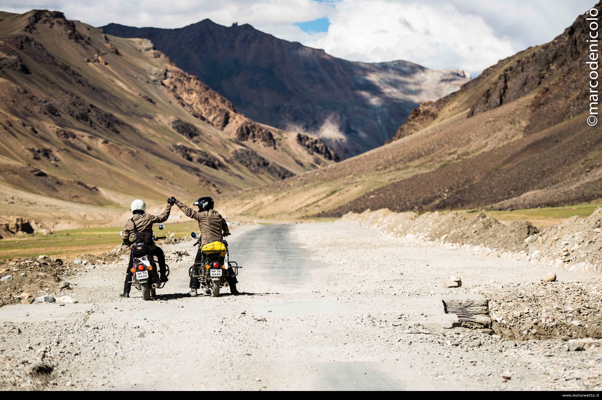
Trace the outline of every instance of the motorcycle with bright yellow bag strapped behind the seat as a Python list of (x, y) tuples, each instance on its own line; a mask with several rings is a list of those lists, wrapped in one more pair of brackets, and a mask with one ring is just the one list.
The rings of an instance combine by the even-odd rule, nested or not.
[[(230, 226), (229, 222), (226, 222)], [(197, 239), (194, 246), (200, 245), (200, 237), (190, 233)], [(229, 259), (228, 242), (211, 242), (200, 249), (203, 253), (201, 262), (195, 262), (188, 270), (191, 278), (198, 278), (201, 286), (207, 288), (211, 297), (219, 297), (220, 288), (228, 288), (228, 277), (238, 275), (238, 263)]]

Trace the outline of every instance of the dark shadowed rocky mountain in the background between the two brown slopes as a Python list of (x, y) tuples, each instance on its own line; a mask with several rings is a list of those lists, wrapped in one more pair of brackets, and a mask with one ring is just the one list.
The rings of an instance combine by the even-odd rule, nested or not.
[(356, 63), (250, 25), (205, 19), (179, 29), (111, 23), (108, 34), (147, 38), (188, 73), (253, 120), (317, 134), (343, 158), (391, 138), (420, 102), (452, 93), (462, 71), (435, 71), (408, 61)]

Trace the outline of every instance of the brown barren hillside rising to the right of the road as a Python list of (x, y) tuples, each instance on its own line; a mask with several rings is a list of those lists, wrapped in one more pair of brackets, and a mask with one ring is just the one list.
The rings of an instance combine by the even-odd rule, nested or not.
[[(600, 10), (601, 5), (595, 6)], [(589, 110), (585, 16), (412, 111), (391, 143), (337, 165), (245, 191), (239, 214), (556, 206), (602, 195), (600, 126)]]

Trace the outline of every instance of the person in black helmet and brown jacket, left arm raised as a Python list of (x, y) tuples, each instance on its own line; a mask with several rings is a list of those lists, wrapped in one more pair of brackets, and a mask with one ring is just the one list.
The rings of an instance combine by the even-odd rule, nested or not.
[[(211, 243), (211, 242), (222, 242), (228, 247), (228, 242), (224, 241), (224, 236), (230, 235), (230, 230), (228, 228), (228, 224), (226, 224), (226, 220), (223, 219), (222, 215), (219, 212), (213, 209), (213, 198), (211, 197), (200, 197), (196, 202), (194, 202), (193, 206), (198, 206), (199, 211), (194, 211), (184, 203), (176, 200), (175, 197), (169, 198), (170, 202), (173, 202), (179, 209), (184, 212), (187, 217), (192, 218), (199, 222), (200, 229), (200, 245), (199, 250), (196, 253), (196, 257), (194, 262), (201, 262), (203, 257), (203, 252), (200, 250), (203, 245)], [(235, 276), (228, 277), (228, 285), (230, 287), (230, 292), (232, 294), (239, 294), (236, 289), (236, 284), (238, 280)], [(200, 288), (199, 278), (190, 278), (190, 292), (188, 294), (191, 297), (197, 295), (197, 289)], [(208, 292), (209, 289), (205, 288), (205, 291)]]

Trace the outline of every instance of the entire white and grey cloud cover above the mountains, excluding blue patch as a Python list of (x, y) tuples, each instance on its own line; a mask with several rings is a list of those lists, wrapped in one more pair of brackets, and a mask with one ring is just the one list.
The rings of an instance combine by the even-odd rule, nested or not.
[[(4, 11), (64, 11), (101, 26), (179, 28), (209, 18), (250, 23), (276, 37), (355, 61), (408, 60), (476, 74), (528, 46), (553, 39), (595, 0), (4, 0)], [(327, 16), (328, 32), (296, 22)]]

